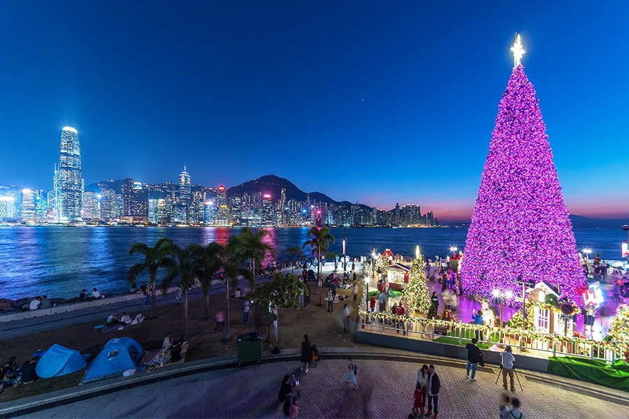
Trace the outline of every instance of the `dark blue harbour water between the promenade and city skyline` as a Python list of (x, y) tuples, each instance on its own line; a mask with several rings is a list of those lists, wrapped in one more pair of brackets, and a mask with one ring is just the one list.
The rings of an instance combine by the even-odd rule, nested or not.
[[(129, 249), (136, 242), (152, 246), (161, 237), (170, 237), (181, 247), (191, 243), (226, 243), (240, 228), (166, 228), (166, 227), (1, 227), (0, 228), (0, 298), (48, 295), (75, 297), (82, 288), (96, 287), (101, 293), (126, 293), (126, 272), (142, 260)], [(302, 247), (309, 228), (269, 228), (265, 241), (276, 251), (277, 260), (287, 260), (285, 250)], [(342, 253), (343, 228), (331, 228), (335, 243), (330, 251)], [(446, 256), (449, 247), (463, 249), (467, 228), (347, 228), (347, 255), (368, 255), (373, 248), (380, 252), (414, 256), (415, 246), (428, 258)], [(602, 258), (619, 260), (621, 228), (575, 228), (577, 249), (588, 247)], [(306, 249), (305, 253), (310, 256)], [(593, 255), (591, 255), (593, 257)], [(266, 263), (271, 260), (267, 258)], [(147, 281), (143, 273), (140, 281)], [(159, 278), (158, 278), (159, 281)]]

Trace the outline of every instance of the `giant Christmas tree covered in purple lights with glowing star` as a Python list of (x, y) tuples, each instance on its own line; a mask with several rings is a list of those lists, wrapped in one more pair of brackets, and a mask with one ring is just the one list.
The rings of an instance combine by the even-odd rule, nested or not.
[(577, 301), (585, 280), (535, 89), (520, 59), (500, 100), (461, 265), (463, 289), (521, 295), (515, 280), (555, 284)]

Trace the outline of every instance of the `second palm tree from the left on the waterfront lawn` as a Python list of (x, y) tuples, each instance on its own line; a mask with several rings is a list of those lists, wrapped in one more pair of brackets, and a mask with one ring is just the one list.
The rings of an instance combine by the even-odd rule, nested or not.
[(182, 249), (173, 243), (167, 247), (168, 256), (163, 260), (164, 266), (168, 269), (168, 276), (162, 282), (162, 292), (166, 293), (176, 277), (179, 277), (179, 286), (182, 289), (181, 295), (184, 303), (182, 340), (188, 340), (188, 290), (194, 285), (198, 275), (201, 274), (204, 251), (205, 249), (201, 244), (189, 244)]

